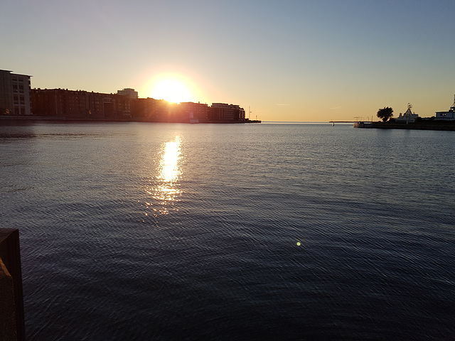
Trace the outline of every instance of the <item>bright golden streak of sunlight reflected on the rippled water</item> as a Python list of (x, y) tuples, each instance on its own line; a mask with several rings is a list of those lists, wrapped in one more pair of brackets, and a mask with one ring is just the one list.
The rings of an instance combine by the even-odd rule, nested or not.
[(159, 202), (160, 208), (154, 209), (156, 214), (167, 215), (168, 205), (180, 201), (178, 196), (181, 195), (181, 190), (178, 189), (178, 180), (182, 173), (181, 159), (180, 136), (176, 136), (175, 141), (166, 142), (161, 146), (161, 160), (157, 168), (156, 182), (151, 189), (146, 190)]

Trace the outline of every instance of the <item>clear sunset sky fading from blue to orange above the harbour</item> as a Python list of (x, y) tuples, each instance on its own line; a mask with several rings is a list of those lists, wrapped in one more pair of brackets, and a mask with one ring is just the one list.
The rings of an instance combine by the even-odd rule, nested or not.
[(1, 0), (0, 69), (139, 97), (164, 98), (166, 82), (180, 102), (263, 121), (397, 117), (408, 103), (432, 117), (454, 102), (454, 14), (454, 0)]

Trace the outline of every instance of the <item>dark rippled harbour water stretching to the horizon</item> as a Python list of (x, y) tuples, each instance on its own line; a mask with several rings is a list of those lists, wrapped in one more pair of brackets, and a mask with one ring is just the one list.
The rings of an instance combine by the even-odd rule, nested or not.
[(27, 338), (455, 340), (454, 145), (329, 124), (0, 126)]

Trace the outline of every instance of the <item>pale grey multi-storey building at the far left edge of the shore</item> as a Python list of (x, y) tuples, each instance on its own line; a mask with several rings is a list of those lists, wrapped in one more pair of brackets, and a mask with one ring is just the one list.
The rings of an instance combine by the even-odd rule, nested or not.
[(30, 77), (0, 70), (0, 114), (31, 115)]

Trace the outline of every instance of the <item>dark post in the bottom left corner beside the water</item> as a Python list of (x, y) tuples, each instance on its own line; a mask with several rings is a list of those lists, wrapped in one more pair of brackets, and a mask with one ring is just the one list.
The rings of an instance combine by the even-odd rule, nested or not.
[(0, 229), (0, 340), (25, 340), (18, 229)]

